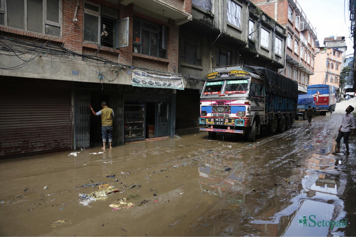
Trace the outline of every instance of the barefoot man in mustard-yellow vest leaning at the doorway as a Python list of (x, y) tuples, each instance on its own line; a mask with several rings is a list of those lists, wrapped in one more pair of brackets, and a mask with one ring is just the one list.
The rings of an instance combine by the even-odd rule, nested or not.
[(93, 107), (91, 104), (88, 104), (88, 107), (91, 110), (91, 113), (94, 114), (94, 116), (100, 116), (101, 115), (101, 134), (103, 138), (103, 151), (105, 152), (105, 145), (106, 145), (106, 136), (108, 136), (109, 139), (109, 144), (110, 144), (110, 150), (111, 150), (111, 144), (112, 144), (112, 119), (114, 118), (114, 111), (112, 111), (111, 108), (108, 107), (106, 102), (101, 102), (101, 110), (99, 112), (94, 111)]

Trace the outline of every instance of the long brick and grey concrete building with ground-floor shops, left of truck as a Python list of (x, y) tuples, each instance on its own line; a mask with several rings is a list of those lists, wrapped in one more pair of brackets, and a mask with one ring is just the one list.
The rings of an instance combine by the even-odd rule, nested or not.
[(284, 67), (285, 29), (248, 0), (0, 0), (0, 158), (198, 125), (214, 66)]

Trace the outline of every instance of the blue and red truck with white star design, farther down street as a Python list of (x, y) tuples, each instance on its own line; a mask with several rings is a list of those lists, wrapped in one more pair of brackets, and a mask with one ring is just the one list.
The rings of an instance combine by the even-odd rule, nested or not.
[(314, 97), (315, 109), (320, 114), (333, 113), (336, 107), (335, 86), (331, 85), (311, 85), (307, 86), (307, 94)]

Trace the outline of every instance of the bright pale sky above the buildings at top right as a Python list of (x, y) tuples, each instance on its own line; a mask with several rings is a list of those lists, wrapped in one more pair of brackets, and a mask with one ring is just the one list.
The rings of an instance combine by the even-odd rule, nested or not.
[(349, 0), (297, 0), (297, 2), (314, 27), (320, 46), (324, 45), (325, 37), (345, 36), (346, 55), (354, 53), (352, 38), (350, 38)]

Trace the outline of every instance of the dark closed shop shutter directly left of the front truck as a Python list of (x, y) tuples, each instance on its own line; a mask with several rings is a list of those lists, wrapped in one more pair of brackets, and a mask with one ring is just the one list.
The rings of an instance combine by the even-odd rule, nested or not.
[(199, 90), (177, 90), (176, 130), (199, 126)]

